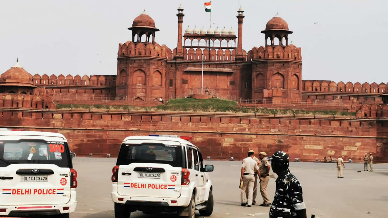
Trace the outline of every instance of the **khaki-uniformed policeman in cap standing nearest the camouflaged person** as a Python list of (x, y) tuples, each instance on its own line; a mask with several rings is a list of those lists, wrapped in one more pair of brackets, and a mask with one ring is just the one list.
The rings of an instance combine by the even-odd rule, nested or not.
[(259, 153), (259, 158), (260, 158), (259, 171), (260, 171), (260, 177), (262, 178), (262, 180), (260, 181), (260, 193), (262, 194), (262, 197), (263, 197), (263, 203), (260, 204), (260, 206), (263, 206), (263, 207), (268, 207), (271, 205), (271, 202), (268, 199), (268, 195), (267, 195), (267, 185), (269, 181), (269, 170), (271, 168), (271, 165), (269, 164), (268, 158), (266, 156), (267, 156), (267, 153), (265, 152)]

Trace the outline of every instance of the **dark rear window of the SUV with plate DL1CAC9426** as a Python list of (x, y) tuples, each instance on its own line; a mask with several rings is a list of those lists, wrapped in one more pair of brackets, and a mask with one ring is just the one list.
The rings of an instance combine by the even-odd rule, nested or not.
[(154, 143), (122, 144), (117, 165), (131, 163), (162, 163), (173, 167), (182, 167), (182, 151), (180, 145), (164, 145)]

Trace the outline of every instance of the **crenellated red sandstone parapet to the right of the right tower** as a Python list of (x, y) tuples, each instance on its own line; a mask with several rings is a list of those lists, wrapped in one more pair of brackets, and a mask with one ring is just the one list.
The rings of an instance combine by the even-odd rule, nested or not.
[(304, 92), (339, 92), (339, 93), (384, 93), (388, 83), (351, 83), (346, 84), (341, 82), (335, 83), (334, 81), (326, 80), (303, 80)]

